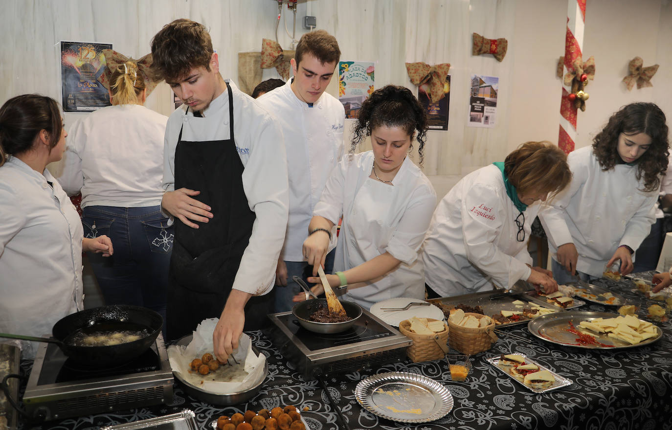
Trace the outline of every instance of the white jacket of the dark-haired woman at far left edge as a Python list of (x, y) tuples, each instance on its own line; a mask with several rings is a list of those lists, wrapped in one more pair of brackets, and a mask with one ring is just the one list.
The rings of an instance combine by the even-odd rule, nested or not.
[[(50, 334), (83, 309), (79, 214), (47, 169), (40, 175), (9, 157), (0, 167), (0, 220), (0, 331)], [(35, 353), (24, 342), (23, 357)]]

